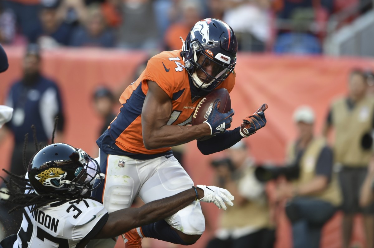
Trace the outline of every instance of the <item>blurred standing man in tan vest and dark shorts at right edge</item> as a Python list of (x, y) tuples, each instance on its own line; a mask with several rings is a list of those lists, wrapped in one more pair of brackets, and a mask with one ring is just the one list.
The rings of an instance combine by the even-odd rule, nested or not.
[(374, 204), (359, 205), (360, 189), (374, 158), (372, 151), (374, 129), (374, 98), (368, 95), (364, 73), (354, 69), (349, 75), (348, 94), (335, 100), (329, 109), (323, 134), (334, 135), (334, 163), (343, 194), (343, 248), (348, 248), (355, 214), (363, 215), (366, 247), (374, 247)]

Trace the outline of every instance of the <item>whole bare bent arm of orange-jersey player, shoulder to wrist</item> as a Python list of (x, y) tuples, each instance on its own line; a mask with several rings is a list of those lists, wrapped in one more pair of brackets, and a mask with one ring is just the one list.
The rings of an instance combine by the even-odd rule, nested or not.
[(148, 81), (148, 92), (142, 109), (142, 135), (145, 148), (170, 147), (208, 136), (208, 124), (195, 126), (166, 125), (172, 112), (172, 101), (156, 82)]

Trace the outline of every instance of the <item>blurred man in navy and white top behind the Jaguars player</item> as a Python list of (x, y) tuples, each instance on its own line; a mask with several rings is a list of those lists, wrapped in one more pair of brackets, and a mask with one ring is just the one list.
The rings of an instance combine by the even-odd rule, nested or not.
[[(30, 144), (25, 150), (26, 161), (30, 161), (36, 151), (31, 125), (35, 125), (36, 137), (42, 146), (50, 142), (56, 116), (59, 117), (59, 122), (55, 141), (62, 140), (64, 130), (64, 114), (59, 88), (55, 82), (41, 74), (39, 48), (35, 44), (28, 47), (23, 60), (23, 76), (10, 87), (6, 105), (14, 109), (12, 120), (5, 126), (14, 136), (10, 172), (24, 175), (22, 153), (25, 134), (30, 134)], [(0, 130), (4, 132), (6, 129)]]

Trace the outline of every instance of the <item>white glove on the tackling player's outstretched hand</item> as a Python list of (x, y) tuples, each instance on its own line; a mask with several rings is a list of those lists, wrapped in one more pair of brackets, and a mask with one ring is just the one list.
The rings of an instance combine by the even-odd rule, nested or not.
[(199, 201), (203, 201), (205, 203), (214, 203), (218, 208), (223, 208), (223, 210), (227, 209), (225, 203), (229, 204), (230, 206), (234, 205), (232, 202), (232, 200), (234, 200), (234, 196), (230, 194), (227, 189), (205, 185), (196, 185), (196, 187), (204, 191), (204, 197)]

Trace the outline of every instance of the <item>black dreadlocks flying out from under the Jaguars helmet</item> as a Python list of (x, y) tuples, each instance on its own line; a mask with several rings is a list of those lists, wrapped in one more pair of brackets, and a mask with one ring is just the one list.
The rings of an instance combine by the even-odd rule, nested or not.
[[(55, 119), (55, 123), (56, 122), (57, 122), (57, 118)], [(31, 128), (33, 129), (34, 145), (36, 148), (36, 152), (38, 152), (40, 151), (41, 147), (38, 145), (38, 142), (36, 140), (36, 128), (34, 125), (31, 126)], [(53, 130), (53, 137), (54, 137), (55, 130), (56, 129)], [(22, 163), (26, 171), (28, 169), (26, 156), (25, 156), (27, 142), (28, 142), (28, 134), (25, 135), (24, 149), (23, 149), (23, 156), (22, 156)], [(1, 199), (1, 201), (5, 201), (5, 202), (12, 203), (15, 205), (15, 207), (9, 210), (8, 213), (12, 213), (15, 210), (28, 207), (28, 206), (31, 206), (30, 212), (33, 212), (37, 208), (43, 207), (49, 203), (53, 203), (56, 201), (65, 201), (65, 202), (70, 201), (70, 203), (73, 204), (73, 203), (79, 203), (80, 201), (87, 199), (87, 198), (96, 200), (95, 198), (90, 197), (88, 195), (81, 195), (79, 194), (79, 192), (76, 192), (75, 194), (64, 193), (63, 195), (58, 194), (58, 193), (36, 194), (36, 192), (33, 191), (34, 188), (31, 186), (29, 180), (25, 178), (26, 175), (22, 175), (22, 176), (16, 175), (5, 169), (3, 169), (3, 171), (9, 175), (9, 178), (6, 180), (2, 176), (0, 176), (0, 178), (3, 179), (7, 187), (7, 191), (0, 191), (0, 192), (3, 194), (9, 195), (9, 198)], [(25, 193), (25, 191), (30, 191), (30, 192)]]

